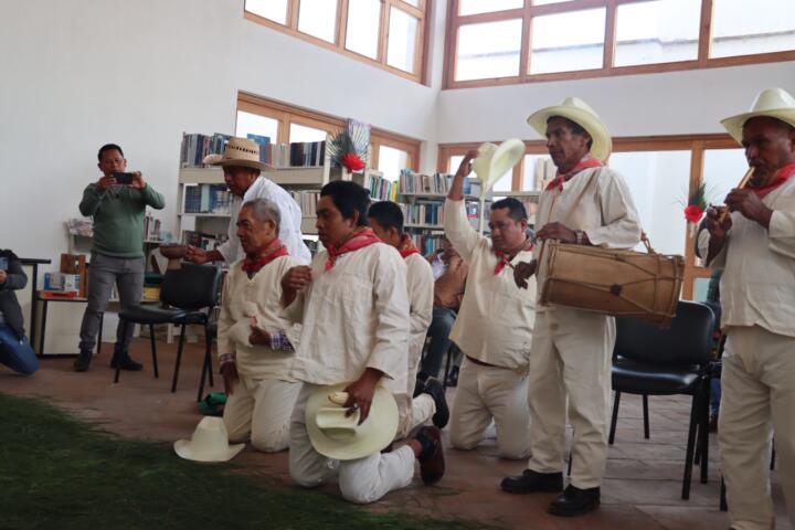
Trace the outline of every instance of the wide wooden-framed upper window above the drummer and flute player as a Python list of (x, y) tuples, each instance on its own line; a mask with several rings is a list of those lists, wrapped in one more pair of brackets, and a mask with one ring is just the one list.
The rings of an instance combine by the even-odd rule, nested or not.
[(795, 60), (792, 0), (448, 0), (445, 88)]

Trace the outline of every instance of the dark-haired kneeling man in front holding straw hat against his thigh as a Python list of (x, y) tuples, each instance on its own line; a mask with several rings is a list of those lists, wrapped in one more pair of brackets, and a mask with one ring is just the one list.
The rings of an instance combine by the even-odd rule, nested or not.
[(354, 182), (326, 184), (316, 223), (326, 251), (282, 279), (285, 315), (303, 324), (290, 476), (316, 487), (339, 475), (342, 497), (357, 504), (411, 484), (415, 459), (425, 484), (444, 475), (437, 427), (381, 453), (398, 433), (392, 394), (406, 389), (410, 317), (405, 264), (367, 226), (369, 205)]

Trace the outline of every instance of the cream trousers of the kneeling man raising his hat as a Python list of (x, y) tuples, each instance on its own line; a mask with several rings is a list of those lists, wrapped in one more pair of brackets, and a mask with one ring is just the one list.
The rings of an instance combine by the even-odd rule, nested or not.
[(499, 367), (484, 367), (464, 359), (451, 415), (451, 445), (473, 449), (486, 437), (494, 420), (502, 458), (530, 455), (528, 377)]

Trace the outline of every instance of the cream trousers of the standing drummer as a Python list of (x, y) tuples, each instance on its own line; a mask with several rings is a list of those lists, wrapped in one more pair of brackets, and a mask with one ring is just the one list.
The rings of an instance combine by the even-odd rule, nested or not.
[(611, 365), (615, 319), (558, 307), (536, 315), (530, 351), (530, 431), (537, 473), (562, 473), (566, 399), (572, 439), (570, 483), (581, 489), (602, 484), (607, 464)]

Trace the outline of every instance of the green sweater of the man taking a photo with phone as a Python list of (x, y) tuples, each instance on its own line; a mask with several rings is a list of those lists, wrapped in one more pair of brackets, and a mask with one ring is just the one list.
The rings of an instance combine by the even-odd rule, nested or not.
[(96, 183), (83, 191), (80, 210), (94, 218), (92, 252), (112, 257), (144, 257), (146, 206), (162, 210), (163, 197), (149, 184), (142, 190), (113, 186), (100, 191)]

